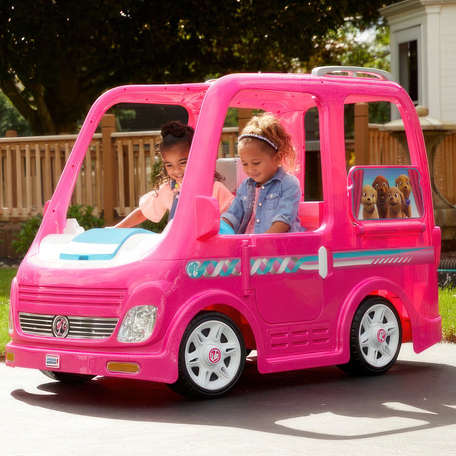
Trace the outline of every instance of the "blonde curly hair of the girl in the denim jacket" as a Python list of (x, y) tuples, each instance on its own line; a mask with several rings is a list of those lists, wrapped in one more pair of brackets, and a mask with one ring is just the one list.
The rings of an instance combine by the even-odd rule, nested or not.
[(291, 141), (291, 136), (274, 114), (263, 113), (252, 117), (242, 130), (242, 135), (264, 136), (264, 138), (267, 138), (277, 146), (277, 150), (266, 141), (257, 138), (242, 138), (238, 142), (238, 147), (244, 144), (244, 141), (260, 141), (265, 148), (275, 153), (275, 162), (282, 166), (285, 171), (293, 174), (299, 170), (299, 165), (296, 164), (296, 150)]

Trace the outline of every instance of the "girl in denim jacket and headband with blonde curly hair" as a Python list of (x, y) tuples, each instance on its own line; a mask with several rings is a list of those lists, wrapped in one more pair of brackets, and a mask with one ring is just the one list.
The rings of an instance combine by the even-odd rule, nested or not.
[(280, 121), (265, 113), (249, 120), (238, 137), (238, 154), (249, 176), (222, 221), (236, 234), (304, 231), (298, 218), (301, 188), (295, 176), (296, 151)]

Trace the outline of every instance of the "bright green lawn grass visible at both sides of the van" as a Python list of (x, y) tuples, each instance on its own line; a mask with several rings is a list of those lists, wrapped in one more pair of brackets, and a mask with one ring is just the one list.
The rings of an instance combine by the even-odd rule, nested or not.
[[(11, 280), (17, 269), (0, 269), (0, 356), (5, 356), (8, 336), (8, 310)], [(456, 288), (439, 290), (439, 309), (442, 316), (442, 340), (456, 343)]]

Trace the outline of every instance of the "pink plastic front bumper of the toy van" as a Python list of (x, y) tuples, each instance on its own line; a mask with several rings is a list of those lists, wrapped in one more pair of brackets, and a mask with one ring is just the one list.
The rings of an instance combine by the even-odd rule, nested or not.
[[(50, 346), (26, 346), (16, 341), (6, 345), (6, 352), (14, 354), (14, 361), (5, 361), (6, 366), (40, 370), (53, 370), (67, 373), (81, 373), (122, 378), (137, 378), (162, 383), (174, 383), (177, 380), (177, 359), (171, 353), (135, 354), (124, 352), (90, 352), (82, 350), (56, 348)], [(59, 368), (46, 367), (46, 356), (58, 355)], [(135, 363), (137, 373), (110, 372), (109, 362)]]

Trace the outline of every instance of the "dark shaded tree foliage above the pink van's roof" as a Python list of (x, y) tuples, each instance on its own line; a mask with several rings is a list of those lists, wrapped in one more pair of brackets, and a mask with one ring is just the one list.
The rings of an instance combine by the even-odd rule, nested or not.
[(72, 132), (108, 88), (293, 71), (393, 1), (2, 0), (0, 88), (35, 134)]

